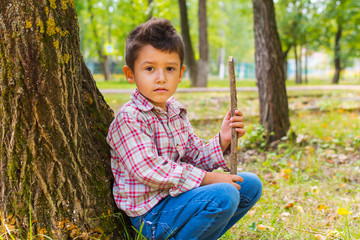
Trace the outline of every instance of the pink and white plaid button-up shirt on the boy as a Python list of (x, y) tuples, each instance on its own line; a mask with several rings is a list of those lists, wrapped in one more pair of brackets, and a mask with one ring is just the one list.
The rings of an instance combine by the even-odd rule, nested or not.
[(145, 214), (161, 199), (199, 187), (205, 171), (227, 169), (219, 134), (204, 145), (186, 109), (171, 97), (167, 112), (137, 90), (109, 127), (113, 194), (130, 217)]

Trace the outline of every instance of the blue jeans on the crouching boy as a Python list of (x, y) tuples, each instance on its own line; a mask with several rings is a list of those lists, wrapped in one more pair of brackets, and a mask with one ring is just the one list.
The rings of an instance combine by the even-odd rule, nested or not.
[(241, 189), (229, 183), (194, 188), (168, 196), (146, 214), (131, 218), (133, 226), (152, 240), (218, 239), (260, 199), (262, 184), (253, 173), (239, 173)]

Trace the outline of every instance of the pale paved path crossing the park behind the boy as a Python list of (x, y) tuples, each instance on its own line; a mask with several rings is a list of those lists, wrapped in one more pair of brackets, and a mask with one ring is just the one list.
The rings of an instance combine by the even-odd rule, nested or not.
[[(238, 87), (238, 92), (257, 92), (257, 87)], [(289, 86), (287, 91), (306, 90), (360, 90), (360, 85), (318, 85), (318, 86)], [(133, 89), (100, 89), (103, 94), (131, 93)], [(178, 88), (176, 92), (229, 92), (229, 88)]]

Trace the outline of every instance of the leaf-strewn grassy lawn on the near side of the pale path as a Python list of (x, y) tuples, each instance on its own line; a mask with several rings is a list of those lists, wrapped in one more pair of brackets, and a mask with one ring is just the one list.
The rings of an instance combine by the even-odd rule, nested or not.
[[(239, 141), (239, 171), (258, 174), (263, 196), (221, 240), (359, 239), (359, 91), (289, 92), (291, 130), (265, 148), (257, 94), (238, 94), (247, 134)], [(319, 97), (319, 95), (321, 95)], [(220, 129), (227, 93), (177, 93), (204, 141)], [(105, 95), (117, 109), (129, 94)]]

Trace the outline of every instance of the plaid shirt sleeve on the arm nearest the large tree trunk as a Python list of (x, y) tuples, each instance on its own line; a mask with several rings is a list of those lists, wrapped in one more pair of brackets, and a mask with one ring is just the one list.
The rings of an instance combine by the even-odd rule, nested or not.
[(154, 189), (169, 189), (171, 196), (200, 186), (205, 172), (159, 156), (152, 130), (139, 115), (122, 112), (111, 129), (108, 142), (120, 164), (138, 182)]

